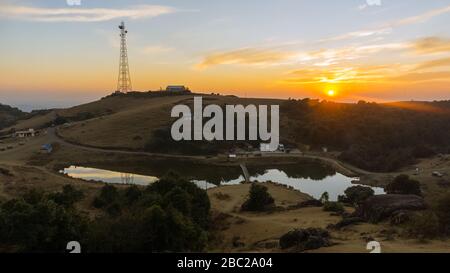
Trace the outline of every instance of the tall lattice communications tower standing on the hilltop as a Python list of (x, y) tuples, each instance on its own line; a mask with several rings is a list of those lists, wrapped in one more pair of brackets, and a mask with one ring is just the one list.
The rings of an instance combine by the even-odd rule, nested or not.
[(125, 23), (119, 25), (120, 29), (120, 63), (119, 63), (119, 78), (117, 80), (117, 91), (128, 92), (132, 91), (130, 68), (128, 66), (128, 51), (127, 51), (127, 33)]

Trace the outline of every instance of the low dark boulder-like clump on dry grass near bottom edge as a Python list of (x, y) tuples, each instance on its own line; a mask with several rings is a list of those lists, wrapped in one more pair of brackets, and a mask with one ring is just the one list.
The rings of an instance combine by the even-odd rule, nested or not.
[(330, 234), (321, 228), (295, 229), (280, 238), (282, 249), (305, 251), (330, 246)]

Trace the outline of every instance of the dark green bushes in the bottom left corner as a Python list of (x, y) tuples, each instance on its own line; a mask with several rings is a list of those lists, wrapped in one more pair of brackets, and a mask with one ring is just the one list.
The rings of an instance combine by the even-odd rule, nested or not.
[(27, 194), (0, 206), (0, 245), (19, 252), (64, 252), (67, 242), (82, 241), (87, 219), (48, 195)]

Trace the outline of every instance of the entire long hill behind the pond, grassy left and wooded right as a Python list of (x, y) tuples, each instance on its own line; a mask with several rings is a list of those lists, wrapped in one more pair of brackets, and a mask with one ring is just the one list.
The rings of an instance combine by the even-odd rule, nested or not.
[[(192, 105), (194, 94), (132, 93), (54, 110), (16, 128), (62, 125), (64, 139), (87, 146), (175, 154), (216, 154), (258, 142), (175, 142), (170, 110)], [(280, 105), (280, 140), (302, 151), (327, 147), (339, 158), (372, 171), (393, 171), (416, 159), (450, 151), (450, 101), (376, 104), (317, 100), (203, 96), (203, 104)]]

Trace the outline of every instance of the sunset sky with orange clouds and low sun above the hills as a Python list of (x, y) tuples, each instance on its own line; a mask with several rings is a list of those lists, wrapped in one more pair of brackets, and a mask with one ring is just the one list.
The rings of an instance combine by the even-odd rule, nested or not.
[(2, 0), (0, 102), (66, 107), (133, 89), (450, 99), (450, 0)]

